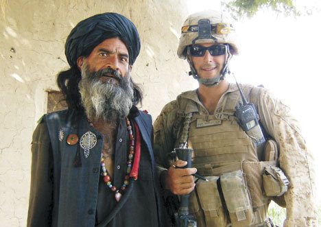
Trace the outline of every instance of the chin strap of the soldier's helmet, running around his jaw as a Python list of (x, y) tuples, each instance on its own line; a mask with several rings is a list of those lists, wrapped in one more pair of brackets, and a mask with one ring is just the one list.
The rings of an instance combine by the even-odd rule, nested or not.
[(225, 79), (226, 74), (230, 73), (230, 69), (228, 69), (228, 61), (230, 60), (230, 58), (232, 58), (232, 54), (230, 53), (230, 49), (228, 47), (228, 45), (226, 44), (226, 51), (225, 51), (225, 64), (224, 64), (224, 68), (221, 71), (221, 75), (219, 75), (219, 77), (215, 77), (215, 78), (209, 78), (209, 79), (204, 79), (204, 78), (200, 78), (195, 70), (195, 67), (193, 65), (193, 62), (191, 61), (190, 56), (190, 50), (189, 48), (187, 48), (187, 62), (189, 62), (189, 67), (191, 68), (191, 71), (189, 71), (189, 75), (193, 75), (193, 78), (195, 80), (198, 80), (198, 82), (200, 82), (201, 84), (204, 84), (205, 86), (217, 86), (219, 84), (219, 82), (221, 82), (222, 80)]

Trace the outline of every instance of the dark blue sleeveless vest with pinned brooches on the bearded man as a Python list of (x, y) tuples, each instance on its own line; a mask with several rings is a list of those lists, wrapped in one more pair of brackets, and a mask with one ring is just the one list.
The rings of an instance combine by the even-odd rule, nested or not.
[[(95, 226), (99, 167), (103, 147), (102, 134), (89, 125), (85, 116), (77, 117), (73, 111), (69, 110), (49, 113), (45, 115), (45, 121), (53, 151), (52, 224), (53, 226)], [(142, 140), (147, 145), (152, 161), (154, 190), (157, 192), (158, 222), (161, 223), (163, 208), (158, 193), (152, 150), (152, 117), (139, 111), (134, 121), (139, 126)], [(75, 167), (73, 162), (78, 144), (67, 144), (67, 136), (69, 134), (81, 136), (88, 131), (96, 135), (97, 144), (90, 150), (88, 158), (82, 157), (82, 167)], [(61, 134), (64, 134), (62, 141), (59, 140), (62, 137)]]

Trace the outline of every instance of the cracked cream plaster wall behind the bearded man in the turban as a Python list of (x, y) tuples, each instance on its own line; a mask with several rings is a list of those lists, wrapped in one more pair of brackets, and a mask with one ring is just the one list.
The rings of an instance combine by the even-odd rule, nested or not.
[(176, 56), (184, 0), (1, 1), (0, 18), (0, 226), (25, 226), (29, 199), (30, 142), (46, 112), (47, 89), (67, 69), (64, 41), (82, 19), (119, 12), (141, 34), (133, 78), (143, 86), (142, 109), (155, 119), (165, 103), (193, 87), (188, 66)]

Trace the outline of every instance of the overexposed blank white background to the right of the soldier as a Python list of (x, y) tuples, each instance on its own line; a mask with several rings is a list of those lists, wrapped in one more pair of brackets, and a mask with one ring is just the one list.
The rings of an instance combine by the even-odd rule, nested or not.
[[(189, 0), (189, 14), (217, 9), (219, 2)], [(321, 9), (321, 1), (316, 0), (301, 0), (296, 4), (300, 8)], [(291, 107), (314, 156), (316, 173), (321, 172), (320, 22), (320, 10), (298, 18), (261, 10), (252, 19), (241, 19), (235, 25), (240, 54), (233, 56), (230, 63), (238, 82), (263, 84)], [(234, 82), (233, 78), (228, 80)], [(321, 179), (316, 180), (320, 204)]]

